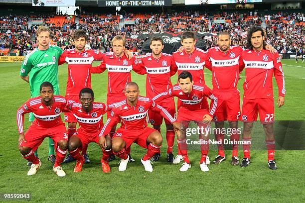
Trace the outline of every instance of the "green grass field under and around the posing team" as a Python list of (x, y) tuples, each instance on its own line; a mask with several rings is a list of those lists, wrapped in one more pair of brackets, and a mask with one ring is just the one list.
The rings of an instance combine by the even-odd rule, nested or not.
[[(98, 62), (95, 62), (95, 65)], [(295, 60), (283, 60), (287, 96), (285, 105), (276, 108), (277, 120), (305, 120), (305, 64)], [(60, 178), (52, 171), (47, 161), (47, 139), (39, 147), (42, 167), (35, 176), (27, 176), (26, 161), (19, 154), (18, 132), (15, 121), (17, 108), (29, 98), (29, 86), (19, 78), (20, 63), (1, 63), (0, 86), (0, 193), (31, 193), (32, 202), (304, 202), (305, 159), (304, 151), (277, 151), (279, 169), (267, 167), (267, 151), (252, 150), (251, 165), (247, 168), (231, 166), (231, 152), (226, 152), (227, 161), (209, 165), (210, 171), (199, 168), (200, 151), (190, 150), (192, 168), (179, 172), (180, 165), (166, 162), (165, 126), (161, 159), (153, 163), (154, 171), (145, 172), (141, 158), (146, 150), (133, 144), (135, 163), (129, 163), (127, 171), (118, 171), (116, 159), (110, 162), (111, 173), (103, 174), (100, 166), (101, 150), (95, 143), (88, 148), (91, 163), (84, 165), (81, 173), (73, 173), (75, 162), (63, 164), (66, 177)], [(243, 74), (244, 75), (244, 74)], [(61, 95), (65, 95), (67, 66), (59, 67)], [(133, 80), (145, 96), (145, 76), (133, 73)], [(211, 87), (210, 71), (205, 69), (206, 84)], [(239, 90), (242, 91), (242, 81)], [(176, 76), (172, 77), (173, 84)], [(274, 80), (274, 85), (275, 85)], [(95, 100), (106, 102), (107, 73), (92, 75)], [(277, 97), (275, 85), (275, 97)], [(104, 116), (104, 120), (105, 120)], [(29, 122), (25, 120), (25, 128)], [(255, 137), (255, 133), (253, 134)], [(262, 138), (264, 139), (264, 138)], [(264, 141), (264, 140), (263, 140)], [(215, 147), (214, 147), (215, 149)], [(240, 146), (239, 157), (242, 158)], [(176, 154), (176, 144), (174, 154)], [(216, 150), (209, 152), (210, 159)], [(2, 200), (1, 200), (2, 201)]]

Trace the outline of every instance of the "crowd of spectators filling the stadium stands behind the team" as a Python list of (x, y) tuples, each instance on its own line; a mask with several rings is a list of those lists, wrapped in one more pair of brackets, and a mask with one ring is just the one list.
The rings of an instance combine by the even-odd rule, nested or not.
[[(89, 38), (88, 45), (92, 49), (110, 51), (111, 40), (115, 35), (124, 35), (128, 40), (126, 47), (141, 53), (143, 40), (134, 39), (133, 35), (144, 32), (183, 31), (210, 32), (217, 34), (227, 31), (231, 35), (232, 45), (245, 45), (245, 34), (251, 26), (266, 23), (267, 42), (280, 53), (295, 53), (305, 51), (305, 16), (304, 13), (283, 13), (262, 15), (258, 11), (222, 12), (209, 15), (199, 11), (182, 11), (174, 13), (122, 13), (121, 17), (106, 15), (79, 15), (78, 23), (67, 16), (62, 26), (49, 23), (48, 18), (53, 15), (30, 16), (32, 20), (42, 20), (51, 28), (54, 44), (62, 48), (71, 48), (71, 36), (74, 29), (86, 30)], [(69, 19), (68, 19), (69, 18)], [(134, 23), (124, 24), (124, 19)], [(16, 49), (23, 55), (26, 51), (37, 46), (34, 40), (38, 25), (28, 26), (29, 16), (1, 16), (0, 17), (0, 49)], [(217, 22), (217, 21), (218, 22)], [(219, 22), (219, 20), (223, 20)], [(33, 35), (31, 41), (31, 35)], [(215, 38), (206, 41), (206, 49), (216, 45)]]

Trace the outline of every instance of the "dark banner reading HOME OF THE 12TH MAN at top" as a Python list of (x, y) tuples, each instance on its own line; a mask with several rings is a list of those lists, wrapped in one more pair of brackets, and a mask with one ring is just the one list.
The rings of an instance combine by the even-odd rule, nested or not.
[(99, 0), (98, 6), (171, 6), (171, 0)]

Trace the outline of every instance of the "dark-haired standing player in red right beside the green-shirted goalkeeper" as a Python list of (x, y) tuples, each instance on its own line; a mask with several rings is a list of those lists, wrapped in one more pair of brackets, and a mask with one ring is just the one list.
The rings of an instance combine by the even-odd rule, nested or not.
[[(85, 50), (85, 45), (88, 42), (87, 34), (84, 30), (76, 30), (72, 35), (72, 40), (75, 49), (65, 50), (59, 58), (58, 64), (68, 64), (68, 80), (66, 88), (67, 100), (78, 101), (79, 92), (85, 88), (91, 88), (91, 73), (96, 73), (98, 69), (92, 67), (94, 60), (102, 60), (106, 53), (101, 53), (98, 50), (88, 49)], [(127, 51), (126, 55), (132, 57)], [(131, 56), (129, 56), (131, 55)], [(76, 118), (73, 113), (65, 113), (65, 121), (68, 122), (68, 137), (70, 138), (76, 131)], [(88, 145), (83, 145), (82, 156), (85, 158), (85, 163), (89, 163), (87, 155)], [(64, 160), (69, 163), (74, 159), (68, 155)]]

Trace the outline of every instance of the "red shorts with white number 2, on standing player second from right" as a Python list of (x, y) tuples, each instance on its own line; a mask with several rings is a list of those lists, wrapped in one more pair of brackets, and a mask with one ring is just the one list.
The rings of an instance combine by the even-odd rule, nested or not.
[[(213, 120), (237, 121), (240, 116), (240, 94), (239, 91), (231, 92), (213, 92), (218, 99), (218, 106)], [(212, 107), (212, 106), (210, 106)]]

